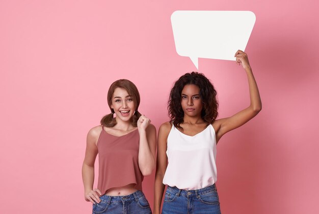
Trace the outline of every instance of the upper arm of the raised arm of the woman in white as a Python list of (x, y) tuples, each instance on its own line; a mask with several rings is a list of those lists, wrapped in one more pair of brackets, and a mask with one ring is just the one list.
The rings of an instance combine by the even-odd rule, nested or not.
[(216, 120), (212, 126), (216, 132), (217, 142), (227, 132), (246, 124), (250, 119), (256, 116), (258, 112), (259, 110), (255, 110), (252, 106), (249, 106), (248, 108), (232, 115), (231, 117)]

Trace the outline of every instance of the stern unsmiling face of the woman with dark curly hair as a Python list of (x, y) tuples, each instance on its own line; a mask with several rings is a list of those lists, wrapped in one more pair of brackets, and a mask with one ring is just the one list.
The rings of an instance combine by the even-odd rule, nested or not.
[(197, 85), (185, 85), (181, 91), (181, 107), (184, 116), (200, 117), (203, 109), (200, 89)]

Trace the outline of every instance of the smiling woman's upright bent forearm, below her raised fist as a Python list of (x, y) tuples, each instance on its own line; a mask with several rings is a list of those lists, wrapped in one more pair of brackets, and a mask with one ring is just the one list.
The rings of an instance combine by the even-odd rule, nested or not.
[(149, 175), (155, 168), (155, 157), (149, 148), (146, 131), (140, 133), (140, 148), (139, 148), (139, 167), (143, 175)]

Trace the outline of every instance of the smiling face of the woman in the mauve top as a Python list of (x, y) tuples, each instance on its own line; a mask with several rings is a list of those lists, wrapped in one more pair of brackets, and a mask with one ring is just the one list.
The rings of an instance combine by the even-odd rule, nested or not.
[(132, 95), (127, 93), (127, 90), (117, 87), (112, 96), (111, 108), (116, 114), (117, 121), (130, 121), (130, 118), (135, 112), (136, 104)]

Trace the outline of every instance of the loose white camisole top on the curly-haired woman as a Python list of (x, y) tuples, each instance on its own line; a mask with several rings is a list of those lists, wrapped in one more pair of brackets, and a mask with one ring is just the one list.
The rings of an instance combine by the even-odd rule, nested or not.
[(167, 137), (168, 165), (163, 184), (182, 190), (198, 190), (215, 184), (216, 135), (209, 125), (189, 136), (172, 126)]

